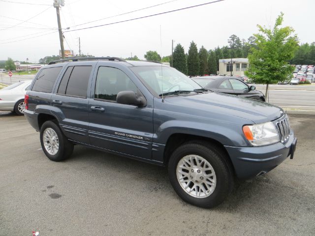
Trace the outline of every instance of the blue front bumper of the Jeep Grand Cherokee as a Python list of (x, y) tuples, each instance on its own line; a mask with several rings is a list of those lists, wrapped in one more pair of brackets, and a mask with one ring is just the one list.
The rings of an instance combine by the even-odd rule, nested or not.
[(271, 171), (289, 155), (293, 158), (296, 141), (291, 132), (285, 144), (277, 143), (262, 147), (224, 147), (231, 158), (236, 176), (246, 179)]

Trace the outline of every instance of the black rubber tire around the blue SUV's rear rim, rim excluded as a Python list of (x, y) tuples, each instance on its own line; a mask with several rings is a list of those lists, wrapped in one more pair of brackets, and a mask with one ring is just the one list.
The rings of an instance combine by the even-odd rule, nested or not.
[[(43, 134), (47, 128), (53, 129), (58, 136), (59, 148), (56, 154), (50, 154), (45, 148)], [(57, 124), (57, 121), (48, 120), (43, 123), (40, 128), (40, 144), (45, 155), (52, 161), (62, 161), (68, 158), (73, 152), (73, 144), (63, 135), (63, 132)]]

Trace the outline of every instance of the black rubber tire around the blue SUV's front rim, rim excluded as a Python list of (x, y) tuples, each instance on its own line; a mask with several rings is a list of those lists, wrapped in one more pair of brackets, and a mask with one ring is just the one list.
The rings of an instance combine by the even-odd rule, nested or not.
[[(179, 183), (176, 172), (177, 165), (187, 155), (201, 156), (213, 167), (217, 181), (216, 187), (210, 196), (204, 198), (193, 197)], [(185, 202), (197, 207), (211, 208), (218, 206), (231, 193), (234, 186), (233, 169), (227, 158), (227, 154), (221, 148), (208, 142), (191, 141), (181, 145), (172, 153), (168, 162), (168, 175), (175, 192)]]

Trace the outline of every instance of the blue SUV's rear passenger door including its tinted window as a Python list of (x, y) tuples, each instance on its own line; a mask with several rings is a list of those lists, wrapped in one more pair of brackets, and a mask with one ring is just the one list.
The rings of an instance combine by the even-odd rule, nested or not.
[(89, 101), (94, 63), (72, 63), (65, 68), (63, 77), (52, 95), (51, 105), (58, 108), (52, 113), (59, 117), (64, 134), (71, 140), (89, 144)]

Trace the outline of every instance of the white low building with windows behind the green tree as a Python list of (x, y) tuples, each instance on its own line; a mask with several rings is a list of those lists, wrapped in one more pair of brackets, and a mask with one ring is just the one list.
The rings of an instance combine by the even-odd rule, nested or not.
[(249, 63), (247, 58), (232, 58), (219, 60), (219, 74), (241, 76), (248, 70)]

